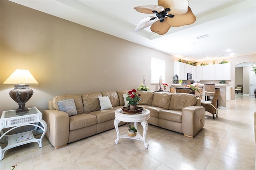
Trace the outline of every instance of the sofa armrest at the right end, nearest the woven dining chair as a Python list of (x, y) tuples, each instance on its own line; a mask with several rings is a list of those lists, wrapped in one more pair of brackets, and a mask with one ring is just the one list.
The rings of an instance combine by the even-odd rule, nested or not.
[(182, 132), (185, 136), (194, 137), (204, 127), (204, 107), (190, 106), (182, 109)]

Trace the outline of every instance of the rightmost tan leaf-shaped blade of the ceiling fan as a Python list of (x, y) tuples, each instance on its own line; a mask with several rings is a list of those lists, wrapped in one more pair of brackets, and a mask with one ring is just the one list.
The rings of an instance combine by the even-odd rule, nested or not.
[(173, 18), (167, 17), (166, 20), (169, 26), (180, 27), (184, 25), (193, 24), (196, 21), (196, 17), (194, 16), (190, 7), (188, 7), (188, 12), (186, 12), (186, 14), (175, 15)]

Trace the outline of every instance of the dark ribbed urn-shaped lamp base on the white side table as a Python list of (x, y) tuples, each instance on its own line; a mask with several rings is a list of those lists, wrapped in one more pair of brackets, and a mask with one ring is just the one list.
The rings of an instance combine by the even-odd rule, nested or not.
[(14, 89), (10, 91), (10, 97), (19, 105), (16, 109), (16, 113), (28, 113), (28, 108), (25, 107), (26, 102), (32, 97), (33, 90), (29, 88), (29, 85), (14, 85)]

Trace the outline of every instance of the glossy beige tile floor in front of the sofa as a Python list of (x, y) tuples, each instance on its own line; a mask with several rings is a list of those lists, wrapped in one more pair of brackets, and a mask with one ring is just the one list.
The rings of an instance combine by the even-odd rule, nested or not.
[[(236, 95), (194, 138), (149, 125), (148, 149), (140, 140), (120, 138), (115, 129), (54, 149), (44, 137), (43, 147), (30, 143), (6, 151), (0, 169), (15, 170), (255, 170), (253, 113), (256, 99)], [(141, 125), (138, 127), (142, 134)], [(126, 126), (120, 127), (120, 134)]]

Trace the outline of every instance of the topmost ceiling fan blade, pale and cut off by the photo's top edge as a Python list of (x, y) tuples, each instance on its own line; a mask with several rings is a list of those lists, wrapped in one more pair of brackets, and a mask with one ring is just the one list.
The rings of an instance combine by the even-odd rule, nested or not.
[(170, 8), (169, 14), (182, 15), (188, 10), (188, 0), (158, 0), (158, 5)]

